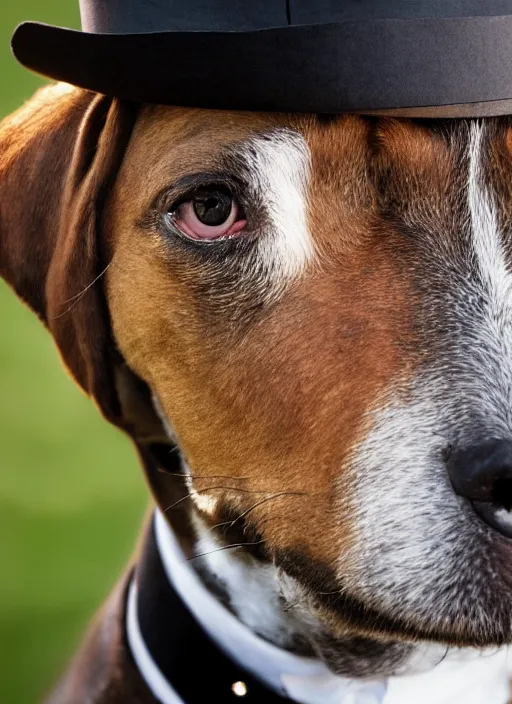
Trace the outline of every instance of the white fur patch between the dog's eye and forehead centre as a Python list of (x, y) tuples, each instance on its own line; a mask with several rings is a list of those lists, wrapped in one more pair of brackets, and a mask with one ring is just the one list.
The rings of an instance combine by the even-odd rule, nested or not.
[(270, 221), (259, 243), (262, 262), (292, 279), (314, 253), (307, 223), (308, 146), (297, 132), (275, 130), (247, 142), (243, 156)]

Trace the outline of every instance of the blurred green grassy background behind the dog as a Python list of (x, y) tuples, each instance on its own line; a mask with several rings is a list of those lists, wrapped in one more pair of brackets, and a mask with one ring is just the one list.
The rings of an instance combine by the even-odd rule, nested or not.
[[(78, 27), (78, 0), (1, 3), (0, 116), (42, 84), (9, 49), (26, 19)], [(148, 498), (129, 442), (1, 281), (0, 321), (0, 704), (33, 704), (121, 573)]]

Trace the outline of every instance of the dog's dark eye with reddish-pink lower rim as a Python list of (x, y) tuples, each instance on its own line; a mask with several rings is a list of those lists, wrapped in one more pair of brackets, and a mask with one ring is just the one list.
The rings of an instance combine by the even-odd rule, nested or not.
[(195, 240), (232, 237), (246, 225), (233, 194), (222, 186), (199, 188), (172, 215), (175, 226)]

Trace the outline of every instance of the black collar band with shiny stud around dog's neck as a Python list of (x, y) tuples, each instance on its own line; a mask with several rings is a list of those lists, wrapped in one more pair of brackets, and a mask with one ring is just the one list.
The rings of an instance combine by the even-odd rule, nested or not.
[[(167, 577), (154, 521), (135, 570), (128, 611), (132, 655), (162, 704), (292, 701), (234, 663), (199, 625)], [(141, 667), (141, 658), (146, 667)], [(147, 673), (154, 669), (150, 682)]]

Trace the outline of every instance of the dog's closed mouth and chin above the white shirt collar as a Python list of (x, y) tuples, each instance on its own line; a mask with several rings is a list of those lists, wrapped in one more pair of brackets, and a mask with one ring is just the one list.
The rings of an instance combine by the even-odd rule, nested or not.
[[(512, 547), (499, 541), (495, 556), (512, 564)], [(286, 566), (283, 564), (286, 562)], [(392, 676), (434, 666), (448, 648), (495, 648), (512, 642), (512, 570), (499, 575), (465, 563), (453, 589), (417, 590), (416, 604), (382, 608), (379, 599), (349, 593), (320, 564), (283, 556), (295, 603), (310, 624), (312, 647), (341, 675)], [(283, 582), (283, 580), (281, 580)], [(457, 590), (457, 586), (459, 590)], [(386, 597), (386, 603), (393, 602)], [(411, 664), (411, 663), (414, 663)]]

